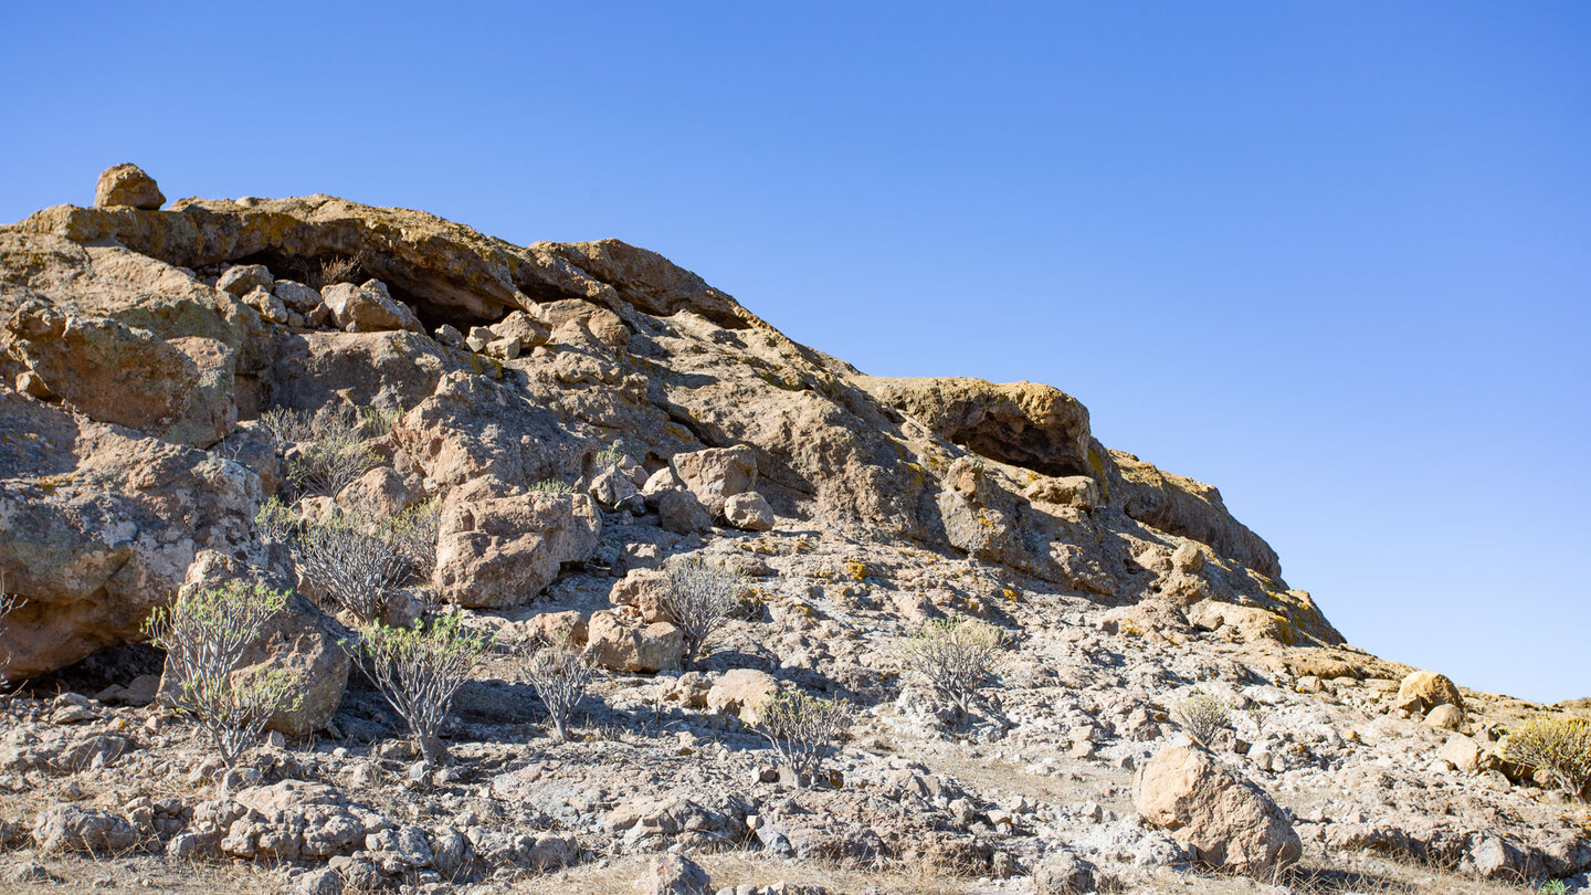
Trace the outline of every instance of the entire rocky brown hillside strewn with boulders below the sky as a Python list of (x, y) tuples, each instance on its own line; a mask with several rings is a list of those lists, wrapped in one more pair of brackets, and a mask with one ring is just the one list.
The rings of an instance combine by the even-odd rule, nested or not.
[[(1348, 647), (1219, 490), (1106, 448), (1053, 387), (866, 376), (613, 239), (164, 202), (118, 166), (95, 207), (0, 228), (19, 881), (95, 879), (78, 852), (118, 855), (113, 887), (180, 890), (199, 860), (317, 893), (1185, 890), (1182, 868), (1278, 882), (1300, 857), (1489, 892), (1591, 866), (1585, 809), (1500, 742), (1542, 707)], [(272, 420), (350, 414), (369, 462), (307, 487), (313, 444)], [(498, 645), (445, 760), (404, 752), (358, 619), (263, 508), (430, 508), (434, 556), (382, 618)], [(698, 662), (660, 597), (681, 559), (746, 583)], [(151, 612), (226, 580), (296, 591), (247, 664), (304, 694), (232, 769), (146, 645)], [(977, 712), (902, 675), (937, 619), (1006, 647)], [(603, 672), (566, 741), (515, 662), (554, 634)], [(1174, 737), (1195, 691), (1228, 709), (1203, 745)], [(827, 782), (773, 766), (776, 693), (853, 707)]]

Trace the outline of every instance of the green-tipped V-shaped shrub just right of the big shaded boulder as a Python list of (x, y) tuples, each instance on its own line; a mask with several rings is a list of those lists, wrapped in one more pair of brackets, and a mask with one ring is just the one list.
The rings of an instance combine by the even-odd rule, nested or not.
[(453, 696), (490, 648), (488, 635), (466, 631), (457, 615), (442, 615), (414, 627), (366, 624), (352, 651), (403, 715), (425, 760), (441, 761), (447, 755), (442, 723)]

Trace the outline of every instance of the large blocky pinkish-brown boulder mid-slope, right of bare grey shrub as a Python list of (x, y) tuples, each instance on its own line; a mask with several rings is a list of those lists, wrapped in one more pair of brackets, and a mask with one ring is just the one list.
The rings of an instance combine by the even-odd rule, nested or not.
[(530, 602), (565, 562), (597, 549), (601, 513), (589, 495), (514, 492), (476, 479), (447, 495), (436, 537), (438, 594), (463, 607)]

